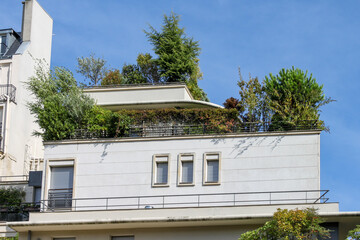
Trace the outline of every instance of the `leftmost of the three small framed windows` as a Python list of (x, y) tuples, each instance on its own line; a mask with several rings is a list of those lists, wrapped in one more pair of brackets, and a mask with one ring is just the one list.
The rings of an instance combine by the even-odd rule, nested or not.
[(153, 157), (153, 186), (168, 186), (169, 155), (161, 154)]

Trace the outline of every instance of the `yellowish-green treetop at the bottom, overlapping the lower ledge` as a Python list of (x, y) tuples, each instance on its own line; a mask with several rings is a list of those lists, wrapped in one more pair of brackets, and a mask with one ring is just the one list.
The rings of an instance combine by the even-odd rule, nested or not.
[(278, 209), (273, 220), (264, 226), (241, 235), (239, 240), (295, 240), (325, 239), (330, 237), (329, 230), (320, 226), (324, 220), (316, 210)]

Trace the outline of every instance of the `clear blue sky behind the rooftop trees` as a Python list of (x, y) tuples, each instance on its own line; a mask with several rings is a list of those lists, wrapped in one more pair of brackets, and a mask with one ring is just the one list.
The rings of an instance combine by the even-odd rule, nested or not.
[[(74, 70), (76, 58), (95, 53), (111, 67), (152, 52), (144, 29), (163, 15), (181, 16), (198, 40), (212, 102), (238, 97), (238, 67), (261, 80), (295, 66), (313, 73), (337, 101), (321, 118), (321, 188), (342, 211), (360, 211), (360, 1), (357, 0), (38, 0), (54, 19), (52, 66)], [(2, 0), (0, 29), (20, 31), (21, 0)]]

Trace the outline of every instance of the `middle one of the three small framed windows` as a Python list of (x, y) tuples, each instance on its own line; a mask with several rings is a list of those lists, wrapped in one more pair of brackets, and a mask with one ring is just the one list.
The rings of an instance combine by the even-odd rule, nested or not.
[(194, 154), (180, 154), (178, 162), (179, 185), (194, 185)]

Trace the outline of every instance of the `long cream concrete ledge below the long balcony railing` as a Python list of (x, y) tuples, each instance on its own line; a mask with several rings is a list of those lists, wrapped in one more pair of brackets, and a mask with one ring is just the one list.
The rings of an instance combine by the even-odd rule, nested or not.
[(209, 225), (263, 224), (278, 208), (315, 208), (323, 215), (337, 214), (338, 203), (291, 204), (182, 209), (141, 209), (84, 212), (31, 213), (28, 222), (8, 223), (18, 232), (113, 228), (186, 227)]

